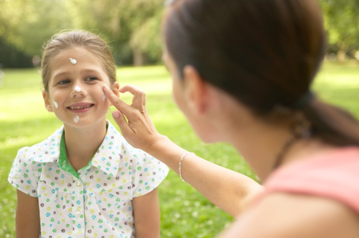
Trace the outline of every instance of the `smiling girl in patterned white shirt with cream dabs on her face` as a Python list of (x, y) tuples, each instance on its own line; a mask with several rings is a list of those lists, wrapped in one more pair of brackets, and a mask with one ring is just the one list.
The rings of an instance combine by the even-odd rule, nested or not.
[(63, 122), (48, 139), (19, 150), (16, 237), (158, 238), (156, 187), (168, 168), (133, 148), (106, 120), (106, 84), (118, 95), (109, 47), (98, 36), (54, 36), (42, 59), (45, 107)]

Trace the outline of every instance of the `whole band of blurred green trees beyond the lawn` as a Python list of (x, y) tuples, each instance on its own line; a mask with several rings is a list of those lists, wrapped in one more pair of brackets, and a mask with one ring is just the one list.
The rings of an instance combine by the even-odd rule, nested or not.
[[(44, 41), (65, 29), (101, 34), (118, 65), (157, 63), (164, 1), (0, 0), (0, 63), (5, 67), (32, 66), (29, 58), (41, 55)], [(359, 49), (359, 1), (317, 1), (323, 11), (328, 52), (339, 52), (340, 60), (354, 57)], [(3, 53), (4, 48), (22, 55)]]

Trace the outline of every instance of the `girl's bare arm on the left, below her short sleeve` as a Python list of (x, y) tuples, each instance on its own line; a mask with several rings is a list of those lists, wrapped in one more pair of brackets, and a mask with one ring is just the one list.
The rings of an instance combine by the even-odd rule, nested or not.
[(39, 238), (41, 230), (39, 199), (19, 190), (16, 192), (16, 238)]

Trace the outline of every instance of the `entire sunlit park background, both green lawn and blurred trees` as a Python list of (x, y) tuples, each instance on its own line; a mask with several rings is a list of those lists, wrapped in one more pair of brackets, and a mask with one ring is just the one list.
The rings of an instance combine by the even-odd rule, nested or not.
[[(328, 36), (325, 62), (314, 91), (359, 118), (359, 1), (318, 0)], [(160, 22), (164, 0), (0, 0), (0, 237), (14, 237), (16, 191), (8, 182), (17, 151), (46, 139), (61, 125), (45, 110), (37, 72), (42, 45), (66, 29), (101, 35), (112, 49), (121, 85), (147, 92), (158, 131), (188, 151), (256, 179), (227, 144), (205, 145), (171, 96), (161, 63)], [(128, 94), (121, 95), (127, 102)], [(111, 109), (113, 110), (113, 109)], [(108, 119), (114, 123), (110, 112)], [(232, 217), (170, 171), (159, 187), (161, 237), (210, 238)]]

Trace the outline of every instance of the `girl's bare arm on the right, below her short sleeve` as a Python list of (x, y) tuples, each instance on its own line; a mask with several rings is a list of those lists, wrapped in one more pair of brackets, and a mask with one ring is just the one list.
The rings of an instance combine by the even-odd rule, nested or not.
[(133, 198), (136, 238), (159, 238), (160, 215), (157, 188)]

